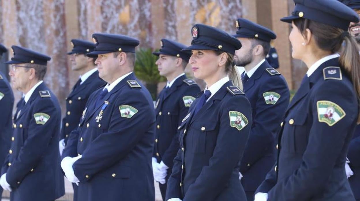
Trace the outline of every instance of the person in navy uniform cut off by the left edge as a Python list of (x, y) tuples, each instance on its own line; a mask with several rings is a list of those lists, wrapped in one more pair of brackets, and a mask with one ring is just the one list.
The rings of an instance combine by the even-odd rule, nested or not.
[[(6, 48), (0, 44), (0, 59)], [(9, 81), (5, 75), (0, 72), (0, 162), (4, 163), (6, 155), (9, 153), (10, 138), (12, 134), (12, 113), (14, 106), (14, 94), (10, 87)], [(3, 188), (0, 187), (0, 195)]]

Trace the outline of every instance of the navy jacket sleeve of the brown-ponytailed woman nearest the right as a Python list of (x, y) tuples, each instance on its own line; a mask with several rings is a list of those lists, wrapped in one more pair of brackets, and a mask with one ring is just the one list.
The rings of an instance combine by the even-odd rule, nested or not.
[[(308, 114), (312, 116), (312, 125), (302, 163), (292, 175), (278, 181), (269, 191), (268, 201), (311, 200), (321, 191), (333, 171), (336, 160), (342, 157), (346, 138), (349, 137), (347, 130), (356, 124), (358, 106), (352, 90), (343, 81), (327, 80), (312, 93), (309, 105), (311, 113)], [(339, 115), (341, 118), (334, 124), (320, 122), (318, 101), (331, 101), (331, 105), (337, 104), (335, 108), (343, 110), (345, 115)], [(345, 166), (345, 155), (343, 160)]]

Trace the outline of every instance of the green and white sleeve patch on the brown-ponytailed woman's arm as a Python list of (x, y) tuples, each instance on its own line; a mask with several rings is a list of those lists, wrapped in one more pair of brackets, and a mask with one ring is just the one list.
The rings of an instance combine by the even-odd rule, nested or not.
[(316, 107), (318, 108), (319, 122), (327, 123), (329, 126), (336, 124), (346, 115), (340, 106), (331, 101), (318, 101)]

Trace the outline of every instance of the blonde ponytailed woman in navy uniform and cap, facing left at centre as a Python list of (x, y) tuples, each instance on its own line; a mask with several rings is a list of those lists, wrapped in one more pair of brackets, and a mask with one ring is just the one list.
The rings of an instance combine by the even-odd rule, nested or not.
[[(166, 200), (245, 200), (239, 165), (249, 136), (251, 105), (233, 66), (241, 43), (217, 28), (195, 24), (189, 63), (206, 83), (179, 126), (180, 149)], [(240, 88), (238, 87), (240, 86)]]

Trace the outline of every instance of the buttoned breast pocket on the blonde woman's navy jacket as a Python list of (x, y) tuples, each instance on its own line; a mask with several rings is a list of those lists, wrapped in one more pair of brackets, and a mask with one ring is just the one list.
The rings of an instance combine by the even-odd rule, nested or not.
[(193, 153), (205, 154), (216, 145), (217, 122), (195, 122), (190, 126)]

